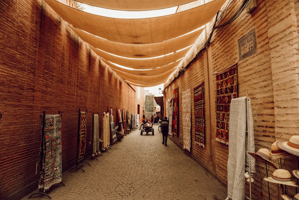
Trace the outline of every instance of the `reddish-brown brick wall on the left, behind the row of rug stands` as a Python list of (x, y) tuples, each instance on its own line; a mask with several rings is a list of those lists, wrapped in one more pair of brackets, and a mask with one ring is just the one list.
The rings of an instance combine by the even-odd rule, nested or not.
[(88, 157), (92, 113), (99, 112), (101, 130), (103, 112), (137, 113), (144, 93), (136, 100), (135, 86), (101, 64), (44, 1), (0, 1), (0, 18), (0, 199), (19, 199), (37, 188), (43, 111), (62, 114), (65, 171), (76, 163), (79, 108), (88, 109)]

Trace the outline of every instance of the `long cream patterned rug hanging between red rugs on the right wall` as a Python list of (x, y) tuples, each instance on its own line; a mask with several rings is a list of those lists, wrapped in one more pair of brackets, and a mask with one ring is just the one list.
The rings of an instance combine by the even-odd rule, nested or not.
[(182, 92), (183, 148), (190, 152), (191, 147), (191, 91)]

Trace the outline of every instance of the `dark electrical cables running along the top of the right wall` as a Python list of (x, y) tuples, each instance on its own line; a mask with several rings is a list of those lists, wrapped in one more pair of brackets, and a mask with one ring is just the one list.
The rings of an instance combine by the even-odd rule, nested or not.
[[(226, 22), (224, 22), (223, 24), (221, 25), (216, 25), (220, 19), (222, 19), (224, 13), (227, 11), (228, 9), (228, 5), (230, 4), (230, 2), (228, 2), (228, 4), (226, 5), (225, 9), (223, 10), (223, 12), (219, 15), (219, 12), (216, 14), (216, 20), (215, 20), (215, 23), (213, 25), (213, 28), (212, 28), (212, 31), (207, 39), (207, 41), (205, 42), (204, 46), (202, 47), (202, 49), (194, 56), (194, 58), (186, 65), (186, 67), (184, 67), (183, 69), (179, 70), (178, 72), (178, 75), (176, 77), (174, 77), (174, 79), (164, 88), (164, 90), (166, 88), (168, 88), (177, 78), (179, 78), (179, 76), (181, 76), (181, 74), (184, 73), (184, 71), (199, 57), (199, 55), (202, 54), (202, 52), (209, 46), (210, 44), (210, 41), (212, 39), (212, 36), (213, 36), (213, 32), (218, 29), (218, 28), (221, 28), (221, 27), (224, 27), (228, 24), (230, 24), (231, 22), (233, 22), (234, 20), (236, 20), (240, 14), (242, 13), (243, 9), (246, 7), (246, 4), (248, 3), (249, 0), (245, 0), (243, 1), (243, 3), (241, 4), (241, 6), (238, 8), (238, 10), (236, 11), (236, 13), (234, 13), (233, 16), (231, 16), (230, 19), (228, 19)], [(218, 16), (219, 15), (219, 16)]]

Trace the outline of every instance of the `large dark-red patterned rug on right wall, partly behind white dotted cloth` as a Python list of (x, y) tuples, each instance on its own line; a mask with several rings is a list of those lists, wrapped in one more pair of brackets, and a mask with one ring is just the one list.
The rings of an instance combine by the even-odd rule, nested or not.
[(216, 74), (216, 141), (228, 145), (231, 99), (238, 97), (237, 64)]

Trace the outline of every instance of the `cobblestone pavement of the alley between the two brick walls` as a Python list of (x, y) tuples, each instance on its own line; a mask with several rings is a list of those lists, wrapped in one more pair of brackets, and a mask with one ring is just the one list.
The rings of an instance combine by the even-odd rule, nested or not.
[[(65, 187), (55, 184), (46, 193), (54, 200), (226, 199), (227, 188), (170, 139), (168, 146), (163, 145), (158, 125), (154, 130), (154, 135), (142, 136), (140, 130), (132, 131), (121, 142), (110, 145), (103, 156), (97, 156), (98, 160), (86, 160), (91, 166), (80, 166), (85, 173), (80, 169), (63, 172)], [(30, 199), (48, 197), (37, 194)]]

